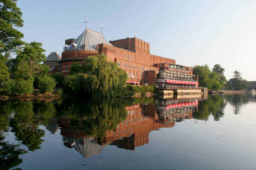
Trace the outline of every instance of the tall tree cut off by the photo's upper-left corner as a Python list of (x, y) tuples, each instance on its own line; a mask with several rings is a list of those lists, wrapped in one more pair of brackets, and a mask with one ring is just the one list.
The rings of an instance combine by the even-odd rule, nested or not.
[(23, 27), (22, 13), (17, 0), (0, 1), (0, 53), (15, 51), (24, 44), (23, 34), (13, 27)]

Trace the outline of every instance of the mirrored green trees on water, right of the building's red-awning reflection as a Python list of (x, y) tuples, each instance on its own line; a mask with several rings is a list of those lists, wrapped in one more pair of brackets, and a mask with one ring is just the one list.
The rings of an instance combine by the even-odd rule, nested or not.
[(224, 115), (225, 106), (226, 103), (224, 103), (223, 96), (209, 95), (207, 100), (199, 102), (198, 111), (193, 113), (193, 118), (208, 120), (208, 117), (212, 114), (214, 120), (218, 121)]

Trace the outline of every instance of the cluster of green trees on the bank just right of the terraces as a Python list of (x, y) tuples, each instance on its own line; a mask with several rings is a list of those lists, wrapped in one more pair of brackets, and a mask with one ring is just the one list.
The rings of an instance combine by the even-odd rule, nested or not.
[[(221, 67), (220, 67), (221, 68)], [(193, 74), (199, 76), (199, 86), (208, 87), (208, 89), (218, 90), (222, 89), (224, 81), (220, 79), (220, 74), (216, 72), (220, 69), (218, 65), (215, 65), (214, 70), (211, 72), (208, 65), (195, 65), (193, 67)], [(222, 69), (220, 69), (222, 71)]]

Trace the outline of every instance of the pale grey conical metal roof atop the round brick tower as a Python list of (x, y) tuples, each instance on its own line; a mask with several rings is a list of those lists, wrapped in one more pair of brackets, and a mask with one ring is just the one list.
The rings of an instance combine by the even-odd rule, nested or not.
[(85, 44), (87, 47), (86, 50), (95, 51), (95, 46), (102, 43), (113, 46), (101, 33), (86, 28), (70, 46), (67, 46), (67, 50), (72, 50), (72, 45), (74, 46), (73, 50), (84, 50)]

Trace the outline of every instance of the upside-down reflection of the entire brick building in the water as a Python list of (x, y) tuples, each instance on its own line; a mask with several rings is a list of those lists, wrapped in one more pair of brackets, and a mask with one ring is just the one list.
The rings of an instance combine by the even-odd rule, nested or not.
[[(201, 97), (201, 95), (200, 95)], [(61, 126), (61, 135), (64, 145), (74, 148), (84, 158), (100, 154), (107, 145), (116, 145), (118, 148), (135, 150), (136, 147), (149, 143), (151, 130), (169, 128), (175, 122), (191, 119), (192, 112), (197, 109), (201, 98), (159, 99), (155, 104), (136, 104), (125, 107), (128, 116), (118, 123), (115, 130), (106, 131), (105, 137), (88, 136), (83, 132), (83, 124), (77, 120), (62, 116), (57, 124)], [(71, 128), (72, 121), (77, 128)], [(74, 127), (74, 124), (73, 124)]]

